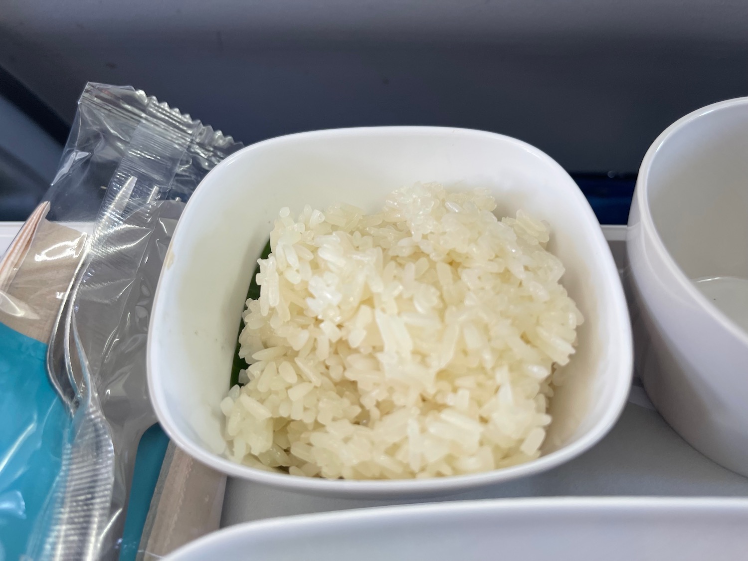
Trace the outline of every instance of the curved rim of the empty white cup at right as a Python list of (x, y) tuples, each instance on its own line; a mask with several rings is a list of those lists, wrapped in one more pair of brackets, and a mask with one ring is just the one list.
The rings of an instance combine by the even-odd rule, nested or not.
[[(666, 266), (670, 275), (678, 283), (681, 290), (683, 290), (687, 296), (696, 301), (703, 310), (706, 310), (709, 315), (714, 318), (729, 334), (743, 343), (744, 346), (748, 347), (748, 332), (744, 331), (737, 323), (727, 316), (720, 308), (712, 304), (701, 290), (693, 285), (693, 282), (687, 277), (687, 275), (681, 269), (681, 266), (675, 261), (670, 252), (668, 251), (665, 242), (663, 242), (660, 231), (657, 229), (657, 225), (654, 223), (652, 218), (652, 212), (649, 208), (649, 174), (652, 171), (652, 163), (657, 158), (657, 152), (662, 149), (666, 141), (669, 140), (673, 135), (681, 132), (691, 123), (696, 120), (706, 117), (708, 114), (714, 113), (715, 111), (721, 111), (726, 108), (732, 108), (738, 105), (748, 105), (748, 96), (735, 97), (732, 99), (725, 99), (720, 102), (712, 103), (711, 105), (705, 105), (702, 108), (691, 111), (689, 114), (684, 115), (680, 119), (676, 120), (668, 126), (663, 132), (660, 133), (654, 142), (647, 150), (642, 160), (642, 165), (639, 168), (639, 176), (637, 177), (637, 188), (634, 192), (634, 197), (639, 208), (640, 223), (643, 230), (649, 233), (650, 239), (652, 239), (652, 247), (657, 252), (657, 256), (660, 257), (661, 263)], [(636, 224), (628, 224), (627, 226), (627, 239), (631, 233), (631, 229), (636, 227)]]

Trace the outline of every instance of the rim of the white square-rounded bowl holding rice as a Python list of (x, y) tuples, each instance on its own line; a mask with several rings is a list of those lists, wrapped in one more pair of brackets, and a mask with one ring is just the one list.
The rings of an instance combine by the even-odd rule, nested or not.
[[(301, 138), (307, 138), (313, 140), (314, 138), (328, 137), (328, 136), (346, 136), (346, 135), (471, 135), (476, 137), (485, 137), (498, 139), (509, 144), (514, 144), (516, 147), (521, 148), (539, 159), (544, 160), (551, 168), (555, 168), (556, 171), (560, 171), (562, 177), (565, 177), (566, 183), (569, 186), (573, 186), (570, 191), (570, 195), (577, 197), (577, 201), (580, 202), (580, 208), (582, 215), (587, 221), (592, 224), (598, 224), (598, 220), (595, 217), (595, 213), (592, 211), (592, 207), (589, 206), (589, 201), (582, 194), (582, 191), (571, 179), (571, 176), (556, 162), (551, 156), (542, 152), (538, 148), (527, 144), (524, 141), (520, 141), (516, 138), (512, 138), (506, 135), (501, 135), (496, 132), (488, 132), (476, 129), (460, 129), (454, 127), (443, 127), (443, 126), (371, 126), (371, 127), (352, 127), (343, 129), (321, 129), (307, 132), (297, 132), (290, 135), (278, 136), (275, 138), (269, 138), (264, 141), (251, 144), (242, 150), (228, 156), (224, 161), (220, 162), (203, 180), (200, 185), (195, 188), (194, 193), (187, 202), (186, 208), (183, 211), (188, 212), (190, 204), (197, 206), (197, 203), (193, 201), (199, 201), (203, 192), (208, 191), (206, 185), (211, 183), (212, 177), (216, 177), (223, 168), (227, 168), (233, 165), (233, 162), (244, 157), (245, 153), (251, 152), (252, 150), (258, 150), (263, 147), (270, 146), (272, 144), (281, 144), (286, 141), (298, 140)], [(179, 239), (180, 229), (185, 227), (185, 222), (180, 220), (177, 223), (177, 227), (174, 230), (174, 234), (171, 238), (171, 243), (167, 251), (167, 255), (171, 253), (171, 245), (174, 244), (175, 239)], [(629, 320), (628, 307), (626, 304), (621, 279), (619, 276), (618, 269), (613, 261), (613, 256), (610, 253), (610, 248), (604, 239), (602, 230), (599, 229), (595, 232), (595, 245), (598, 245), (597, 251), (595, 251), (595, 261), (598, 263), (597, 267), (601, 269), (602, 274), (606, 278), (610, 278), (610, 281), (605, 283), (605, 286), (601, 286), (602, 291), (609, 292), (610, 307), (613, 310), (613, 325), (618, 331), (619, 337), (616, 340), (619, 345), (620, 358), (613, 367), (610, 368), (610, 372), (616, 373), (616, 381), (613, 384), (613, 390), (610, 396), (610, 405), (601, 419), (595, 423), (585, 434), (577, 438), (577, 441), (567, 444), (566, 446), (555, 450), (545, 456), (540, 456), (537, 459), (531, 460), (524, 464), (509, 466), (507, 468), (497, 468), (490, 471), (480, 473), (470, 473), (459, 476), (443, 476), (434, 477), (429, 479), (323, 479), (317, 477), (304, 477), (304, 476), (291, 476), (286, 473), (275, 473), (258, 468), (251, 468), (247, 465), (237, 464), (230, 459), (220, 456), (218, 453), (209, 452), (205, 447), (200, 447), (194, 444), (190, 438), (186, 438), (177, 428), (177, 423), (174, 421), (171, 413), (168, 410), (168, 406), (165, 405), (165, 388), (162, 384), (162, 377), (156, 375), (156, 364), (154, 349), (154, 324), (158, 322), (157, 313), (152, 313), (149, 325), (149, 334), (147, 340), (147, 380), (148, 388), (150, 393), (151, 403), (156, 411), (162, 428), (167, 433), (175, 444), (177, 444), (182, 450), (202, 462), (205, 465), (209, 465), (215, 470), (225, 473), (229, 476), (235, 476), (242, 479), (248, 479), (255, 482), (262, 483), (264, 485), (270, 485), (278, 488), (286, 488), (295, 491), (304, 491), (311, 494), (359, 494), (361, 496), (392, 496), (393, 494), (430, 494), (439, 492), (459, 491), (464, 488), (474, 488), (481, 485), (488, 485), (498, 482), (509, 481), (510, 479), (516, 479), (520, 476), (530, 476), (542, 471), (554, 468), (561, 465), (568, 460), (579, 456), (581, 453), (589, 450), (592, 446), (598, 443), (607, 432), (613, 427), (618, 418), (620, 417), (625, 403), (628, 399), (628, 391), (631, 387), (631, 379), (633, 377), (633, 364), (634, 364), (634, 351), (633, 341), (631, 334), (631, 322)], [(162, 275), (159, 277), (159, 283), (156, 286), (156, 292), (153, 298), (153, 311), (155, 312), (159, 307), (159, 296), (162, 292), (162, 283), (165, 277), (168, 275)]]

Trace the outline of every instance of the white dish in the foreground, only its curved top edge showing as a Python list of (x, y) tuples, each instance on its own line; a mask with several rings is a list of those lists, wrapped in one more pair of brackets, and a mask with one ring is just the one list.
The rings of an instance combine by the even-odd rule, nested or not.
[(732, 561), (747, 524), (724, 497), (458, 501), (239, 524), (165, 561)]

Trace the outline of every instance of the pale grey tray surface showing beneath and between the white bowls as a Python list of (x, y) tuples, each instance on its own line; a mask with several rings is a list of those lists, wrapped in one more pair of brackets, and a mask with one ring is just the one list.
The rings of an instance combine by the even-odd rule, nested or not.
[[(603, 230), (619, 270), (623, 271), (625, 226), (603, 226)], [(627, 495), (748, 497), (748, 478), (721, 468), (676, 435), (654, 411), (637, 378), (634, 378), (628, 401), (613, 430), (577, 459), (536, 476), (439, 500)], [(229, 479), (221, 526), (397, 503), (393, 500), (313, 497)]]

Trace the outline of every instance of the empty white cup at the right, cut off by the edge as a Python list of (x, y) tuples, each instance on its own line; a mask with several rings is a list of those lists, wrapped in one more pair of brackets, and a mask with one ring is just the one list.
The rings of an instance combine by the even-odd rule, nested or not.
[(628, 227), (637, 370), (663, 417), (748, 476), (748, 98), (647, 152)]

